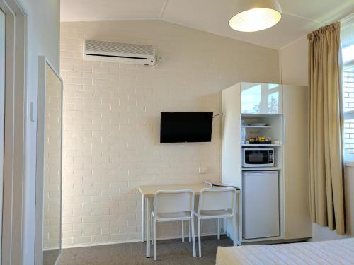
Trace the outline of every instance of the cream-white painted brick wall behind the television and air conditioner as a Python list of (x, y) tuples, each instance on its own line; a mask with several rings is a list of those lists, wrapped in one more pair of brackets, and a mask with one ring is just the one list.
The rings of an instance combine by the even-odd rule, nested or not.
[[(85, 38), (154, 45), (166, 61), (84, 61)], [(222, 88), (278, 82), (278, 59), (273, 49), (161, 21), (62, 23), (64, 247), (139, 240), (139, 185), (219, 180), (220, 117), (211, 143), (160, 144), (160, 112), (219, 113)], [(181, 231), (178, 223), (158, 230)]]

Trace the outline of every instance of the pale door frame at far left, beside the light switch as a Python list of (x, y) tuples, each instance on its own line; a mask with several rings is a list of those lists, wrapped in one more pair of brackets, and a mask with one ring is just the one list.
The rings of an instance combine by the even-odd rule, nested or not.
[(5, 144), (1, 264), (22, 264), (25, 176), (26, 17), (16, 0), (0, 0), (6, 15)]

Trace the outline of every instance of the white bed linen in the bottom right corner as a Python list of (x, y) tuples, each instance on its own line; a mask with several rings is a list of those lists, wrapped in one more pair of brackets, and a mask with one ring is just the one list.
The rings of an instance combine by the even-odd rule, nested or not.
[(354, 264), (354, 238), (279, 245), (218, 247), (216, 265)]

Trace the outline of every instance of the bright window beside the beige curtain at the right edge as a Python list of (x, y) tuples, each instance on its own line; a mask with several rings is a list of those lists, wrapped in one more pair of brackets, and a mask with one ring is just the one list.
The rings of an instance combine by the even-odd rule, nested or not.
[(342, 23), (344, 159), (354, 161), (354, 18)]

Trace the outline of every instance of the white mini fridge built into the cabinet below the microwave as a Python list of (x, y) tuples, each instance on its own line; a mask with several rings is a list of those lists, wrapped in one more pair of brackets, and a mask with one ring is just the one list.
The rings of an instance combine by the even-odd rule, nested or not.
[(242, 236), (246, 240), (279, 236), (279, 172), (249, 171), (242, 177)]

